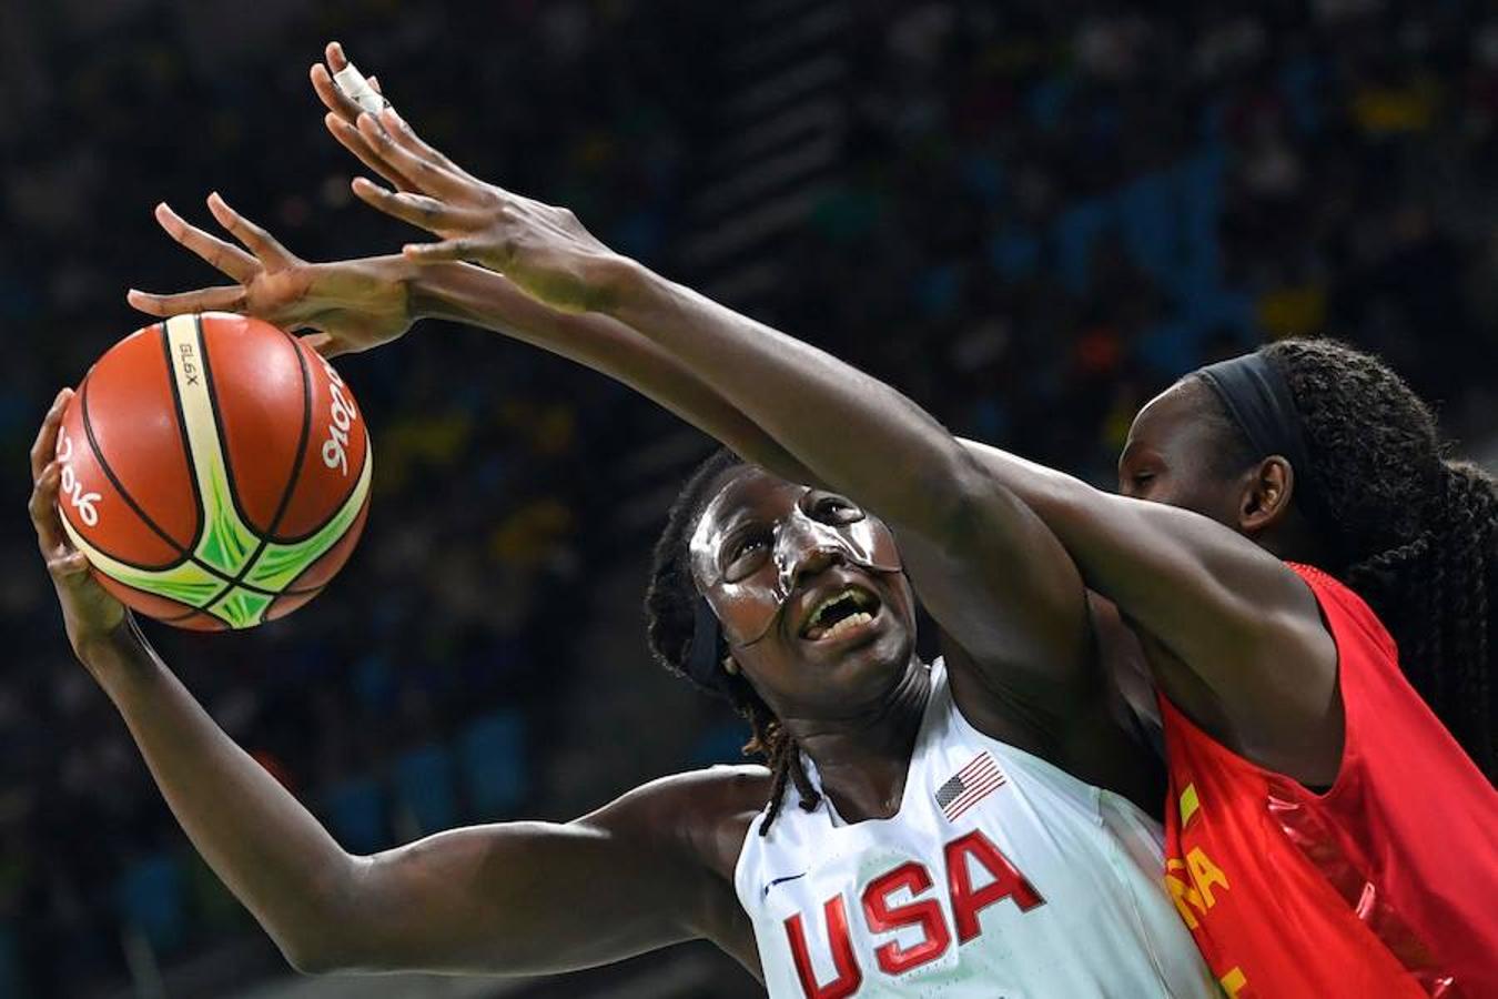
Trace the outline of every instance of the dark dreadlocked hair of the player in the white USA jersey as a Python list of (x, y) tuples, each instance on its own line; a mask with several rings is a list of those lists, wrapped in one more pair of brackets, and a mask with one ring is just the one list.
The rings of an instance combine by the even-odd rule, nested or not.
[[(650, 560), (650, 587), (646, 590), (646, 641), (656, 662), (691, 680), (692, 686), (700, 690), (727, 698), (734, 710), (749, 722), (750, 735), (743, 752), (746, 756), (762, 756), (770, 773), (774, 774), (770, 786), (770, 810), (759, 825), (759, 836), (767, 836), (776, 815), (780, 813), (786, 783), (795, 783), (801, 809), (810, 812), (821, 803), (821, 794), (812, 786), (801, 762), (800, 746), (795, 744), (795, 738), (791, 737), (759, 693), (743, 678), (743, 674), (730, 674), (725, 669), (718, 674), (715, 686), (707, 686), (692, 677), (686, 668), (695, 634), (695, 607), (703, 599), (692, 580), (689, 553), (692, 532), (697, 530), (697, 521), (707, 503), (712, 502), (713, 487), (722, 475), (746, 464), (743, 458), (727, 448), (716, 451), (692, 472), (671, 503), (665, 530), (656, 541)], [(728, 646), (719, 635), (713, 659), (722, 662), (727, 655)]]

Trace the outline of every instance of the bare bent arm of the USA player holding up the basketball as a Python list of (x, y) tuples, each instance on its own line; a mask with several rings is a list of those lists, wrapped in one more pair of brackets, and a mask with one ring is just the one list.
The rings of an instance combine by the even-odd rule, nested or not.
[[(58, 394), (31, 449), (30, 500), (69, 641), (189, 839), (294, 966), (536, 974), (697, 936), (752, 966), (733, 888), (698, 860), (715, 809), (743, 797), (721, 774), (658, 782), (571, 824), (455, 830), (374, 857), (343, 851), (214, 723), (69, 544), (52, 457), (69, 397)], [(752, 812), (764, 788), (748, 791)]]

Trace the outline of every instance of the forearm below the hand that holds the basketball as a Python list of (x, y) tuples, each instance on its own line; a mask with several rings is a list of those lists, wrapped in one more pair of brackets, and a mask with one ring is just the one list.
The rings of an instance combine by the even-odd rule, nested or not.
[(214, 723), (133, 628), (90, 653), (193, 846), (297, 966), (333, 930), (352, 858), (270, 773)]

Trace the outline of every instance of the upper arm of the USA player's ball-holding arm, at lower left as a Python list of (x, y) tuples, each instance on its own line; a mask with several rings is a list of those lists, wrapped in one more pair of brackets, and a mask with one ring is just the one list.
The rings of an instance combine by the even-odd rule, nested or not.
[(530, 975), (691, 939), (703, 875), (595, 816), (452, 830), (358, 861), (336, 962)]

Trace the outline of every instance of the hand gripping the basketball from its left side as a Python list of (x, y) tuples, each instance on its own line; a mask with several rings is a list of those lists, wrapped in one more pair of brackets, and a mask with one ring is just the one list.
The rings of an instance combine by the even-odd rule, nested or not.
[(63, 410), (73, 397), (73, 389), (64, 388), (46, 410), (46, 419), (31, 445), (31, 527), (36, 542), (46, 562), (46, 571), (63, 605), (63, 622), (67, 626), (67, 641), (85, 664), (90, 652), (106, 641), (124, 623), (126, 610), (88, 572), (88, 559), (73, 547), (63, 530), (61, 514), (57, 512), (57, 496), (63, 484), (64, 461), (57, 455), (57, 434), (63, 425)]

